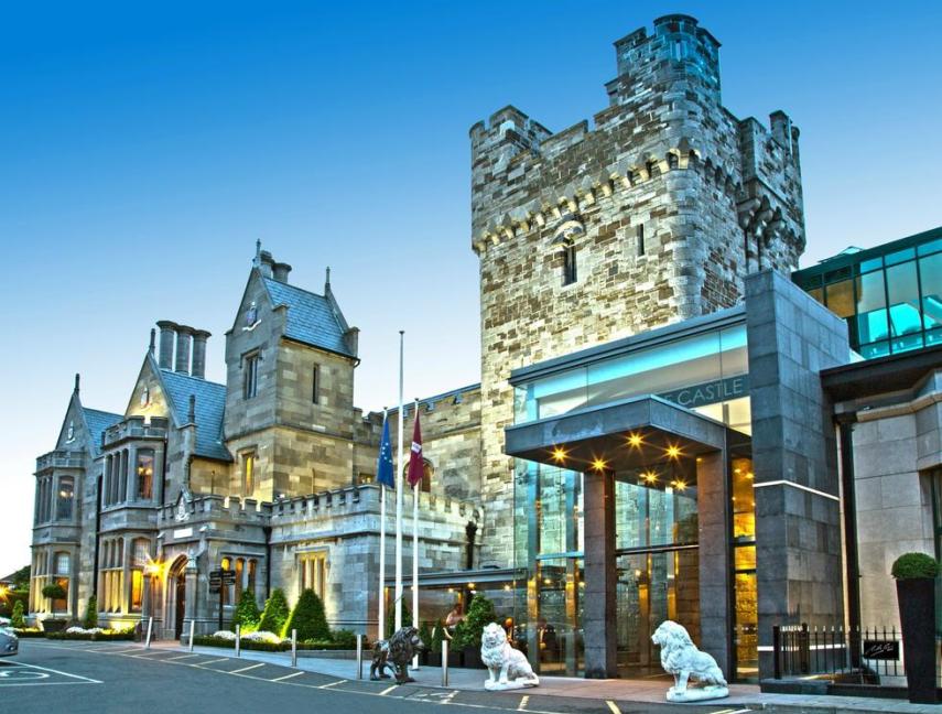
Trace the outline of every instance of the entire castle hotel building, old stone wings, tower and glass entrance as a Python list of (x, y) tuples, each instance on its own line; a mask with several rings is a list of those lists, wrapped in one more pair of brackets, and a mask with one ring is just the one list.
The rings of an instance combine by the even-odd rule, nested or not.
[[(658, 671), (674, 619), (751, 679), (775, 625), (892, 624), (889, 564), (939, 553), (942, 230), (793, 272), (789, 117), (723, 106), (719, 43), (690, 17), (615, 50), (592, 128), (507, 107), (470, 130), (480, 383), (418, 405), (420, 616), (484, 592), (539, 671), (593, 678)], [(312, 587), (375, 636), (382, 415), (354, 407), (329, 273), (314, 293), (290, 270), (257, 250), (226, 383), (204, 377), (209, 334), (171, 322), (122, 411), (84, 407), (76, 378), (36, 463), (35, 617), (94, 595), (102, 621), (180, 637), (240, 591)]]

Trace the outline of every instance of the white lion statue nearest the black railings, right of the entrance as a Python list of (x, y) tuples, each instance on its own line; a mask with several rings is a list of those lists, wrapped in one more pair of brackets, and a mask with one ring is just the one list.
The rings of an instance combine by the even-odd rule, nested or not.
[[(651, 641), (661, 648), (661, 667), (674, 678), (674, 685), (668, 690), (669, 701), (718, 699), (729, 694), (716, 660), (696, 649), (683, 625), (671, 620), (661, 623), (651, 636)], [(691, 678), (703, 688), (687, 690)]]

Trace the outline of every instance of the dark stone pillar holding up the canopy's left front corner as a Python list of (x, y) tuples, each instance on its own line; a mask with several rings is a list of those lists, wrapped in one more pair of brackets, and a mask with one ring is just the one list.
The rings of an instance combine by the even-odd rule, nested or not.
[(615, 627), (615, 474), (587, 473), (585, 493), (586, 679), (618, 677)]

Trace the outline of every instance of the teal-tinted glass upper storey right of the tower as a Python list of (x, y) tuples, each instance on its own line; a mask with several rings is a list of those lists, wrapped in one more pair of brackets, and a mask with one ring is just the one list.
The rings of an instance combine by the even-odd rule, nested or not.
[(792, 280), (847, 321), (865, 359), (942, 344), (942, 228), (836, 256)]

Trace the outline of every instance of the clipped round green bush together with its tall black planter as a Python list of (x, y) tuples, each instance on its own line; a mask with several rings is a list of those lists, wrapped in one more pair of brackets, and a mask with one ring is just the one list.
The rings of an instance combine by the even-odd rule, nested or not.
[(925, 553), (905, 553), (892, 564), (909, 701), (935, 704), (935, 576), (939, 562)]

